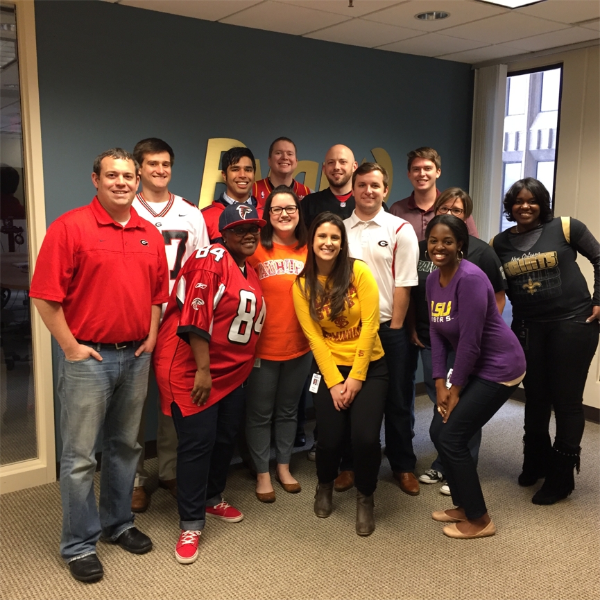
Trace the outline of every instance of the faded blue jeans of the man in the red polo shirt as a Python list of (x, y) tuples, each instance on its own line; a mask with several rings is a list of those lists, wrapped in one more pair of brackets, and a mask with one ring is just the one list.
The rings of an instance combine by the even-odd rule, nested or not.
[[(137, 346), (136, 346), (137, 347)], [(139, 419), (148, 390), (151, 354), (136, 347), (102, 345), (102, 361), (68, 361), (59, 348), (60, 555), (67, 563), (96, 554), (103, 535), (117, 540), (133, 526), (131, 495), (137, 459)], [(102, 434), (100, 512), (94, 495), (96, 443)]]

